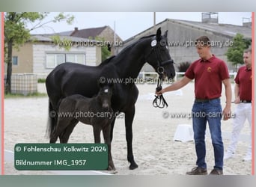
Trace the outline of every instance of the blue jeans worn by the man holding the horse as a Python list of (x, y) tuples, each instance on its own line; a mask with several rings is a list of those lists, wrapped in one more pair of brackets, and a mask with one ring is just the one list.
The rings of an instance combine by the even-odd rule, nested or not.
[(207, 102), (194, 102), (192, 107), (192, 121), (197, 155), (196, 165), (207, 168), (205, 162), (205, 130), (208, 122), (212, 138), (215, 165), (214, 168), (222, 170), (224, 147), (222, 141), (222, 105), (220, 99), (211, 99)]

